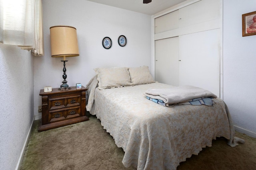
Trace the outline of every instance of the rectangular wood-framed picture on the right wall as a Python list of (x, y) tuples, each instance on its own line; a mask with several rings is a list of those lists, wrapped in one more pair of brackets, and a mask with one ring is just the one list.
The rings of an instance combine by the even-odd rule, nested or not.
[(256, 11), (242, 14), (242, 36), (256, 35)]

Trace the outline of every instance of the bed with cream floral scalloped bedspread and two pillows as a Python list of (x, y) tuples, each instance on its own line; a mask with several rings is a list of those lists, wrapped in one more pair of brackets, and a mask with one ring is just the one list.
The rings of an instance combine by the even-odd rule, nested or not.
[(175, 170), (192, 154), (211, 147), (216, 137), (225, 137), (232, 147), (242, 142), (234, 137), (228, 107), (220, 98), (214, 98), (214, 106), (165, 107), (144, 92), (174, 86), (155, 82), (147, 66), (95, 71), (87, 84), (86, 109), (124, 150), (125, 167)]

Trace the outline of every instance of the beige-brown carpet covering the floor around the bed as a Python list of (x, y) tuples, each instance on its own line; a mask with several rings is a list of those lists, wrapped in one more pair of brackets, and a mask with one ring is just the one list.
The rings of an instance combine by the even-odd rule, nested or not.
[[(34, 121), (20, 170), (135, 170), (122, 164), (124, 151), (95, 116), (89, 121), (38, 132)], [(242, 133), (244, 144), (230, 147), (226, 139), (181, 162), (178, 170), (252, 170), (256, 167), (256, 139)]]

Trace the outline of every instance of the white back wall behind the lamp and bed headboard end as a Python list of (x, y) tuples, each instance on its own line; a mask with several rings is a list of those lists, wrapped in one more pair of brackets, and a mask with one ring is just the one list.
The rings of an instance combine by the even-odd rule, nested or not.
[[(69, 86), (83, 86), (95, 75), (93, 68), (110, 66), (142, 66), (151, 70), (151, 16), (97, 4), (86, 0), (43, 0), (44, 57), (34, 60), (34, 114), (41, 118), (40, 89), (58, 88), (62, 84), (62, 58), (52, 58), (50, 27), (70, 25), (76, 27), (79, 57), (66, 58)], [(124, 35), (127, 45), (120, 47), (118, 37)], [(112, 47), (104, 49), (102, 39), (110, 37)]]

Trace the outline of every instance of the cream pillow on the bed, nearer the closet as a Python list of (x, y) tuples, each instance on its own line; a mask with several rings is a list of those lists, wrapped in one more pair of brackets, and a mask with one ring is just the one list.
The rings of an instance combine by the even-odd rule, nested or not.
[(148, 66), (128, 68), (133, 85), (154, 83), (154, 79), (149, 72)]

